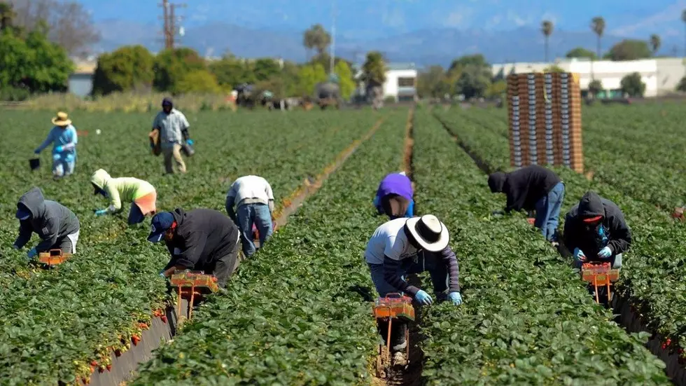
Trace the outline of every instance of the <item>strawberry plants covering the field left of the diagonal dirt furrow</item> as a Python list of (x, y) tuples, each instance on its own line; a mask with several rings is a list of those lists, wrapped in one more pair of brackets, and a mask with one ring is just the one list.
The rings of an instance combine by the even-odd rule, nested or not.
[[(48, 172), (29, 174), (22, 154), (43, 138), (46, 117), (8, 118), (25, 136), (9, 136), (7, 167), (0, 172), (0, 378), (8, 384), (73, 382), (87, 375), (88, 362), (140, 332), (167, 297), (157, 273), (167, 262), (165, 249), (146, 242), (147, 226), (126, 227), (125, 217), (94, 218), (104, 207), (92, 195), (90, 172), (104, 167), (113, 176), (148, 179), (158, 189), (158, 210), (211, 207), (223, 211), (230, 182), (241, 174), (267, 178), (276, 200), (286, 198), (308, 175), (316, 175), (337, 153), (362, 137), (379, 118), (368, 112), (241, 115), (213, 113), (191, 118), (197, 153), (189, 173), (162, 177), (161, 158), (146, 144), (150, 117), (83, 114), (76, 125), (88, 130), (78, 145), (77, 174), (52, 182)], [(49, 122), (49, 120), (48, 120)], [(35, 125), (35, 126), (32, 126)], [(94, 135), (100, 128), (102, 135)], [(49, 165), (48, 165), (49, 168)], [(12, 251), (15, 202), (31, 186), (73, 209), (81, 223), (78, 254), (57, 270), (27, 268), (25, 251)], [(35, 237), (34, 237), (35, 239)]]

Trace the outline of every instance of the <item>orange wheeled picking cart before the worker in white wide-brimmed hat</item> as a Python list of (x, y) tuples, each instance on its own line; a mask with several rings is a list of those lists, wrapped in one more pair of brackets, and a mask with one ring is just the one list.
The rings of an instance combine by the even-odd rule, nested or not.
[[(412, 298), (398, 293), (387, 294), (384, 298), (377, 298), (372, 305), (372, 314), (379, 325), (388, 324), (386, 333), (386, 345), (379, 344), (379, 356), (377, 357), (377, 373), (379, 376), (385, 373), (385, 369), (391, 364), (391, 327), (393, 319), (395, 323), (414, 322), (414, 307)], [(405, 356), (409, 361), (409, 329), (405, 329)]]

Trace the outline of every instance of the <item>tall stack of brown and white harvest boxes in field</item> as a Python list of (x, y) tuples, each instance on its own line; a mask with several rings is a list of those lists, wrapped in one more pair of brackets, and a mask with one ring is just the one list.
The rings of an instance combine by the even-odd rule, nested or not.
[(507, 102), (512, 166), (564, 165), (583, 172), (577, 74), (512, 74)]

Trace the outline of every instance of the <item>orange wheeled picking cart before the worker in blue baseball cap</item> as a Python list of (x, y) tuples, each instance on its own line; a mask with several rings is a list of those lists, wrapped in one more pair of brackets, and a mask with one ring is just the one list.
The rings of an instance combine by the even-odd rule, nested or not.
[[(172, 287), (177, 288), (176, 298), (176, 317), (181, 321), (182, 317), (188, 315), (188, 320), (193, 316), (193, 305), (196, 301), (202, 301), (204, 296), (219, 290), (217, 278), (214, 275), (206, 275), (203, 272), (185, 270), (181, 273), (174, 273), (169, 279)], [(182, 314), (183, 301), (188, 302), (188, 310)]]

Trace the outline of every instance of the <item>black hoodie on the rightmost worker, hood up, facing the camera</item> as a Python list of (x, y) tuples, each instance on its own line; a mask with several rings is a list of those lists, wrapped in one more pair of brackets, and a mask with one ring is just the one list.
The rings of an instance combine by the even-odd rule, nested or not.
[(579, 248), (588, 258), (594, 259), (602, 249), (595, 227), (587, 226), (583, 221), (584, 218), (594, 216), (603, 216), (601, 223), (605, 226), (608, 247), (612, 249), (613, 255), (629, 250), (631, 229), (624, 221), (622, 210), (614, 202), (589, 191), (565, 217), (564, 242), (570, 251)]

